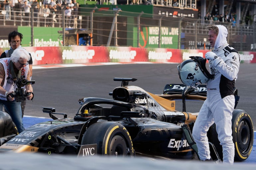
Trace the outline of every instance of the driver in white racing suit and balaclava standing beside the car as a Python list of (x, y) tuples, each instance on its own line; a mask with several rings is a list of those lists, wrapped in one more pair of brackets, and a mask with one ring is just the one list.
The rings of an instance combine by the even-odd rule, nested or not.
[(198, 147), (200, 160), (209, 160), (210, 150), (206, 136), (215, 123), (218, 139), (223, 148), (223, 163), (234, 163), (235, 148), (232, 140), (232, 112), (235, 106), (233, 90), (239, 71), (239, 53), (227, 43), (227, 28), (208, 26), (208, 40), (214, 49), (205, 54), (213, 79), (207, 81), (207, 99), (195, 121), (192, 137)]

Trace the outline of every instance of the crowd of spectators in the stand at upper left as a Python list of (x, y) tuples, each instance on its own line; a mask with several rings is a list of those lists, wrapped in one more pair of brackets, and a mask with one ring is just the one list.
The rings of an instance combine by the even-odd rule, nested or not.
[(38, 16), (44, 17), (46, 27), (54, 26), (64, 14), (65, 27), (77, 28), (78, 7), (76, 0), (4, 0), (1, 14), (7, 21), (13, 20), (15, 16), (23, 16), (23, 21), (29, 21), (33, 9), (34, 21)]

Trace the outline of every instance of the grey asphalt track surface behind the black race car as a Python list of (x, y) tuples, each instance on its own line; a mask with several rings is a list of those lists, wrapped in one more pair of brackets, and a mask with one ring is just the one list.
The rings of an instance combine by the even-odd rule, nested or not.
[[(74, 65), (34, 66), (32, 80), (34, 99), (27, 101), (24, 125), (29, 127), (41, 121), (49, 120), (49, 115), (42, 112), (42, 107), (54, 107), (57, 113), (66, 113), (69, 118), (75, 116), (83, 97), (102, 97), (112, 99), (108, 93), (121, 85), (114, 82), (115, 77), (136, 78), (130, 85), (137, 85), (148, 92), (162, 94), (166, 84), (180, 84), (177, 63), (168, 64), (102, 64), (83, 67)], [(253, 124), (256, 124), (256, 75), (255, 64), (240, 64), (236, 87), (240, 96), (238, 109), (247, 111)], [(42, 69), (44, 68), (44, 69)], [(187, 101), (187, 111), (198, 112), (201, 101)], [(176, 110), (181, 110), (181, 102), (176, 102)], [(41, 117), (41, 118), (38, 118)], [(47, 119), (45, 119), (45, 117)], [(255, 135), (254, 135), (255, 137)], [(249, 158), (242, 163), (256, 164), (256, 140)]]

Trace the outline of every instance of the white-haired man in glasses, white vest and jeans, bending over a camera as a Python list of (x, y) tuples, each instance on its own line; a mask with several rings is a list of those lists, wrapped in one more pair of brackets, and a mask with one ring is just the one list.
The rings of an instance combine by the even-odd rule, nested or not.
[[(0, 103), (12, 117), (19, 133), (25, 130), (21, 102), (15, 101), (15, 97), (11, 94), (17, 89), (15, 82), (20, 76), (25, 76), (25, 79), (30, 81), (29, 60), (30, 55), (24, 48), (15, 49), (10, 58), (0, 59)], [(34, 97), (32, 85), (25, 85), (25, 87), (27, 92), (31, 92), (27, 95), (27, 99), (32, 100)]]

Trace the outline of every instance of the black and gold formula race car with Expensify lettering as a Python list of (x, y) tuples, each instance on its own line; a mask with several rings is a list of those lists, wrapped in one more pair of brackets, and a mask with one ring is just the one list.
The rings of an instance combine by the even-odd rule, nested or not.
[[(136, 80), (114, 78), (122, 84), (109, 93), (113, 100), (79, 99), (81, 106), (72, 119), (64, 113), (56, 113), (54, 108), (43, 107), (43, 112), (49, 113), (53, 120), (33, 125), (20, 134), (11, 128), (9, 122), (9, 126), (5, 126), (9, 127), (8, 132), (1, 134), (0, 151), (194, 158), (197, 148), (191, 131), (198, 113), (186, 112), (185, 101), (205, 100), (205, 86), (199, 85), (195, 89), (168, 84), (164, 94), (152, 94), (138, 86), (128, 85)], [(175, 110), (177, 99), (183, 101), (182, 111)], [(57, 118), (60, 114), (63, 119)], [(2, 131), (3, 123), (0, 122)], [(232, 123), (235, 160), (243, 161), (253, 146), (252, 120), (246, 111), (235, 109)], [(222, 148), (214, 126), (208, 137), (212, 160), (221, 159)]]

